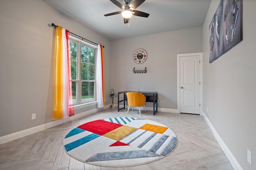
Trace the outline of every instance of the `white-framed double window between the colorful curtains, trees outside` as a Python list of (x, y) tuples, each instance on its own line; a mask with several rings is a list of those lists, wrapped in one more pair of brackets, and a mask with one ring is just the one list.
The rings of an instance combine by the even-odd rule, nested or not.
[(73, 104), (96, 101), (95, 56), (97, 47), (72, 36), (69, 38)]

